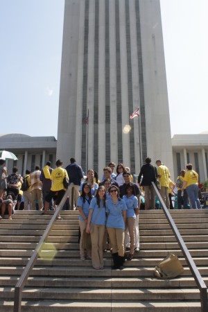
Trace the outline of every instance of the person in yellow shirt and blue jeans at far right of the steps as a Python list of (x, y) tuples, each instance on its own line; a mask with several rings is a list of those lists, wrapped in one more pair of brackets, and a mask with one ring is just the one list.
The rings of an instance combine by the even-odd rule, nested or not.
[(182, 190), (187, 188), (189, 202), (192, 209), (201, 209), (200, 200), (198, 198), (198, 173), (192, 169), (192, 164), (187, 164), (187, 172), (184, 175), (184, 183)]

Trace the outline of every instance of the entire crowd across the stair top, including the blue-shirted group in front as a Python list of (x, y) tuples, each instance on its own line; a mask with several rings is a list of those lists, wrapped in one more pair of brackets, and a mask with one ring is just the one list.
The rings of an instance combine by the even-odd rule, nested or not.
[[(80, 259), (92, 259), (95, 270), (103, 269), (103, 252), (112, 252), (112, 269), (122, 269), (125, 259), (132, 260), (139, 252), (139, 209), (155, 209), (155, 182), (159, 194), (168, 209), (173, 209), (172, 196), (177, 192), (177, 209), (200, 209), (198, 199), (198, 173), (187, 164), (186, 171), (180, 171), (177, 180), (171, 180), (167, 166), (157, 159), (156, 166), (151, 158), (145, 159), (144, 166), (133, 182), (132, 174), (123, 164), (110, 162), (103, 168), (98, 179), (96, 171), (89, 169), (84, 177), (83, 169), (71, 158), (70, 164), (62, 168), (60, 159), (56, 168), (51, 163), (40, 169), (35, 166), (32, 173), (26, 170), (24, 177), (13, 167), (8, 175), (5, 161), (0, 159), (0, 209), (1, 218), (8, 214), (12, 220), (15, 209), (41, 210), (48, 214), (60, 204), (64, 193), (64, 179), (69, 179), (68, 205), (63, 209), (78, 209), (80, 225)], [(116, 171), (116, 173), (114, 172)], [(175, 191), (176, 189), (176, 191)], [(58, 216), (58, 219), (61, 217)]]

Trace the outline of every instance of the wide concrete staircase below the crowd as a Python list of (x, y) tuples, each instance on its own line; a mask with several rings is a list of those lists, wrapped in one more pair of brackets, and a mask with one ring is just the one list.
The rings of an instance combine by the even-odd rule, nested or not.
[[(208, 209), (171, 214), (208, 285)], [(12, 220), (1, 220), (1, 312), (13, 311), (14, 286), (50, 219), (17, 211)], [(105, 269), (93, 270), (90, 260), (79, 257), (78, 211), (62, 211), (24, 288), (21, 311), (200, 311), (200, 293), (163, 211), (141, 211), (139, 224), (141, 251), (124, 270), (111, 270), (110, 252)], [(184, 274), (156, 279), (153, 269), (168, 252), (180, 258)]]

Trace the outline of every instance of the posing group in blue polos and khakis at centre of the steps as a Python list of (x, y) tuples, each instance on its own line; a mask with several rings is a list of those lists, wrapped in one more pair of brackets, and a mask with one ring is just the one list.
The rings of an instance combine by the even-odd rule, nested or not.
[[(135, 250), (135, 218), (139, 213), (138, 200), (134, 194), (134, 187), (128, 184), (123, 198), (119, 198), (119, 188), (110, 185), (110, 180), (105, 180), (104, 185), (96, 189), (92, 195), (92, 184), (83, 183), (81, 195), (78, 198), (80, 213), (80, 259), (91, 259), (95, 270), (104, 267), (103, 249), (105, 249), (105, 231), (110, 238), (112, 247), (112, 269), (122, 269), (125, 261), (124, 239), (125, 230), (130, 235), (131, 260)], [(84, 232), (91, 236), (92, 248), (83, 247)], [(104, 245), (103, 245), (104, 242)]]

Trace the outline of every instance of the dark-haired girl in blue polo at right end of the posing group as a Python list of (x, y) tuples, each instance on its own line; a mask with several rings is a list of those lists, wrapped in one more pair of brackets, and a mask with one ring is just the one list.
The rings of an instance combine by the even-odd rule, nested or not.
[(130, 252), (127, 259), (132, 260), (135, 251), (135, 220), (136, 214), (139, 214), (138, 209), (138, 198), (135, 196), (135, 188), (132, 183), (127, 184), (125, 189), (125, 195), (123, 196), (125, 201), (127, 212), (126, 212), (126, 223), (125, 223), (125, 241), (130, 236)]

